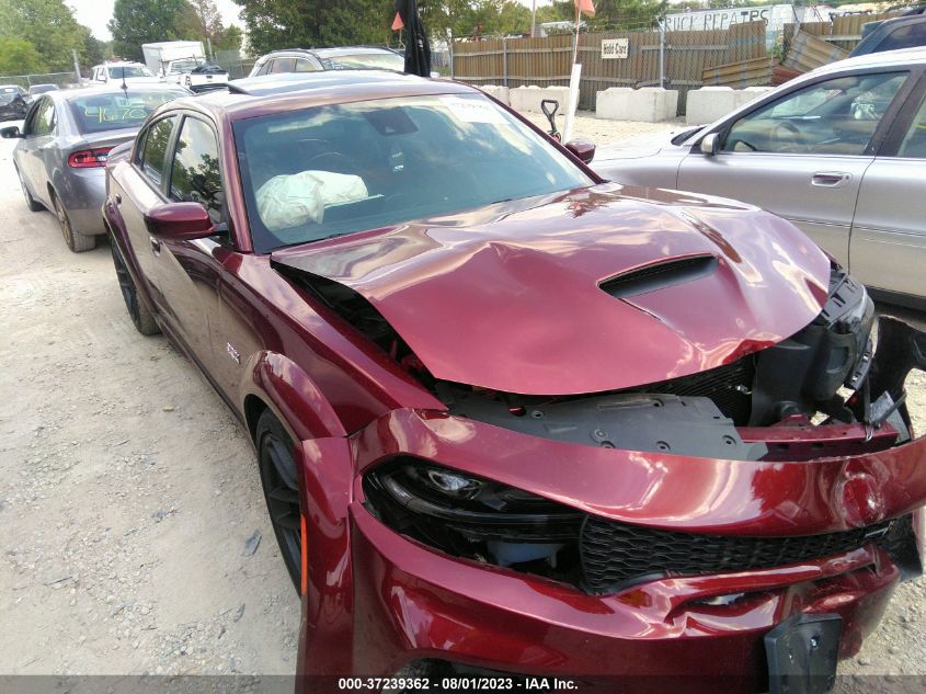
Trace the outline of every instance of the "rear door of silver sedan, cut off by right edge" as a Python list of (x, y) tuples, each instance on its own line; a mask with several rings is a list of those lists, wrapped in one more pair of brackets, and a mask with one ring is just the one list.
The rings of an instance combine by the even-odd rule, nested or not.
[(926, 79), (865, 172), (850, 270), (865, 284), (926, 297)]

